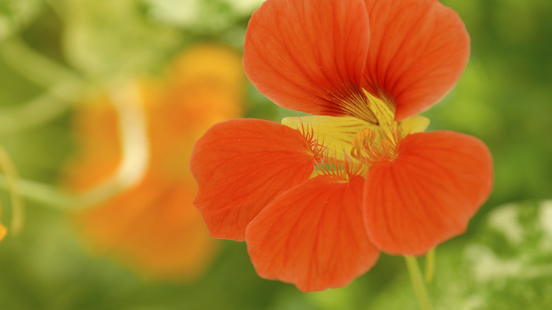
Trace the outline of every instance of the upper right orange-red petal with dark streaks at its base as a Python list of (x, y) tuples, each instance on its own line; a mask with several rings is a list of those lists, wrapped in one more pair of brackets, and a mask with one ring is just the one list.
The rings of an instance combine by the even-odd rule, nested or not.
[(366, 2), (370, 48), (363, 87), (396, 104), (396, 120), (437, 103), (468, 62), (460, 17), (437, 0)]

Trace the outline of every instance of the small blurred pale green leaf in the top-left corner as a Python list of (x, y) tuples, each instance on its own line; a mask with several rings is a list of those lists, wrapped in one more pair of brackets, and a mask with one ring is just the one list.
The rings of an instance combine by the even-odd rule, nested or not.
[(40, 8), (42, 0), (0, 0), (0, 40), (28, 25)]

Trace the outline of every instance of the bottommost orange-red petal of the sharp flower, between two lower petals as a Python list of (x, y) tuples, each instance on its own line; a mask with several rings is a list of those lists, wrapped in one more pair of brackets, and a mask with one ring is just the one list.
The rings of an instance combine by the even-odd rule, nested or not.
[(258, 274), (309, 292), (343, 287), (372, 268), (379, 251), (362, 222), (363, 183), (318, 176), (263, 209), (246, 234)]

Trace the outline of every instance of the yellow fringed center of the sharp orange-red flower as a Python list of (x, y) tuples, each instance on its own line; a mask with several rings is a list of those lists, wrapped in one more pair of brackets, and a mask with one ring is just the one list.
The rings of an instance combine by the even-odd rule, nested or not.
[[(377, 124), (361, 117), (304, 116), (286, 117), (282, 124), (303, 132), (311, 145), (316, 145), (318, 171), (345, 176), (359, 172), (375, 161), (396, 159), (396, 151), (403, 137), (422, 132), (429, 120), (413, 116), (395, 120), (395, 107), (364, 91), (369, 110)], [(363, 169), (366, 173), (367, 169)], [(345, 173), (343, 173), (345, 171)], [(362, 174), (364, 174), (362, 173)]]

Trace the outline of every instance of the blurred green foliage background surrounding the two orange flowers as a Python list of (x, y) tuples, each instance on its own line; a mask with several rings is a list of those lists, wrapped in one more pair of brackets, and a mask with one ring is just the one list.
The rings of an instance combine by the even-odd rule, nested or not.
[[(496, 206), (552, 197), (552, 2), (442, 2), (466, 23), (471, 60), (456, 88), (424, 115), (430, 130), (466, 132), (488, 144), (495, 190), (467, 234), (437, 248), (430, 294), (436, 309), (546, 309), (552, 304), (550, 205)], [(42, 192), (23, 188), (26, 229), (0, 243), (0, 309), (417, 309), (403, 259), (393, 256), (382, 256), (348, 287), (303, 294), (260, 279), (245, 244), (226, 241), (200, 280), (146, 282), (108, 258), (90, 257), (64, 213), (45, 203), (55, 200), (48, 189), (56, 188), (59, 168), (74, 150), (69, 125), (77, 94), (155, 73), (197, 40), (240, 48), (258, 5), (0, 0), (0, 144), (22, 178), (47, 185)], [(26, 57), (18, 42), (53, 64)], [(86, 88), (75, 86), (75, 79)], [(296, 115), (253, 86), (247, 101), (248, 117), (279, 121)], [(24, 119), (25, 108), (36, 119)], [(8, 223), (8, 195), (0, 199)], [(512, 237), (516, 229), (522, 237)], [(506, 267), (492, 273), (500, 266)]]

